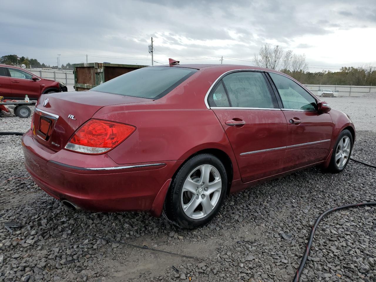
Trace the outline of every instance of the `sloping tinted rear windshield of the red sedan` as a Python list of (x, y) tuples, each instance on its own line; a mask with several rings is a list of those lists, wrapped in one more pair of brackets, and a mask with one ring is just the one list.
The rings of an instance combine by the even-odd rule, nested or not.
[(177, 67), (146, 67), (115, 77), (92, 91), (132, 97), (159, 99), (197, 70)]

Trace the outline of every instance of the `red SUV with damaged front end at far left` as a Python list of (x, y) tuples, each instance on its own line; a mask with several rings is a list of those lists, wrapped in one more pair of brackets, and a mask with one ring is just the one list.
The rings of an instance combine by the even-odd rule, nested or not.
[(5, 99), (37, 100), (42, 94), (68, 91), (67, 86), (51, 79), (44, 79), (23, 68), (0, 65), (0, 96)]

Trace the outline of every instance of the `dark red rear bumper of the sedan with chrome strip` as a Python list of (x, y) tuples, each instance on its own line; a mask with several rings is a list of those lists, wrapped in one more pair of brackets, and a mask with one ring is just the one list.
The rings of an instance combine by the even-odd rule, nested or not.
[[(50, 151), (30, 131), (23, 136), (22, 144), (25, 167), (40, 188), (56, 199), (91, 211), (150, 210), (159, 216), (169, 180), (183, 162), (119, 166), (107, 155), (87, 160), (88, 155)], [(73, 157), (77, 165), (73, 165)]]

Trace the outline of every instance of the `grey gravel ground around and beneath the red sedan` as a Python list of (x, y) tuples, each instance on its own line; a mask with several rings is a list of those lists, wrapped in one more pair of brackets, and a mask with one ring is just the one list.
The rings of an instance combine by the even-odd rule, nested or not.
[[(326, 100), (358, 129), (353, 157), (376, 163), (376, 99)], [(0, 131), (29, 126), (30, 118), (0, 121)], [(0, 136), (0, 281), (291, 281), (321, 212), (376, 201), (375, 170), (350, 162), (340, 174), (311, 168), (232, 194), (212, 223), (196, 230), (145, 212), (73, 213), (29, 178), (20, 139)], [(18, 224), (13, 233), (9, 222)], [(375, 235), (374, 207), (324, 218), (301, 281), (376, 281)]]

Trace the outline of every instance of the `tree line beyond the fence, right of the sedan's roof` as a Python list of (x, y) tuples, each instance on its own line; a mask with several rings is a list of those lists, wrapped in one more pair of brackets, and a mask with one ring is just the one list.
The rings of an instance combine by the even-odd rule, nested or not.
[(254, 55), (255, 65), (288, 74), (303, 84), (323, 85), (376, 85), (376, 67), (367, 64), (359, 67), (341, 67), (340, 71), (308, 71), (305, 55), (285, 51), (279, 45), (265, 44)]

